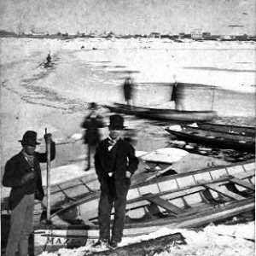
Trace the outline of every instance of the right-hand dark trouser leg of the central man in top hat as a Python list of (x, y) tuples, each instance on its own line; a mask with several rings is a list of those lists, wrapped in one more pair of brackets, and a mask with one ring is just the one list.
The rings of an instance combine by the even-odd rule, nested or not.
[(117, 191), (116, 198), (114, 200), (114, 220), (112, 229), (112, 241), (119, 242), (122, 240), (123, 230), (125, 225), (125, 207), (126, 207), (126, 195), (128, 187), (123, 188), (122, 193)]

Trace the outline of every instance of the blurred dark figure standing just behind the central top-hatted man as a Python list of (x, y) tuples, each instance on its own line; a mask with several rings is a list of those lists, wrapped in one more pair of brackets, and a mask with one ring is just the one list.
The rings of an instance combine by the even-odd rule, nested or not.
[(104, 127), (102, 117), (96, 114), (97, 104), (95, 102), (90, 103), (90, 114), (85, 117), (82, 123), (82, 128), (86, 129), (84, 132), (84, 143), (87, 144), (87, 166), (84, 171), (90, 170), (91, 157), (96, 152), (96, 146), (100, 142), (100, 133), (98, 128)]

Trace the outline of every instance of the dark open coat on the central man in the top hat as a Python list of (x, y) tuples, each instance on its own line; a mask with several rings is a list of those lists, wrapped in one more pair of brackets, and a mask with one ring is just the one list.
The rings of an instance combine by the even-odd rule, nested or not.
[[(108, 194), (108, 170), (107, 170), (107, 162), (108, 158), (106, 157), (108, 154), (108, 138), (103, 140), (99, 146), (96, 148), (95, 154), (95, 168), (96, 175), (98, 177), (99, 182), (101, 183), (101, 191), (102, 193)], [(119, 139), (117, 142), (117, 155), (116, 162), (114, 165), (114, 180), (115, 180), (115, 189), (117, 194), (122, 194), (129, 189), (131, 184), (131, 179), (125, 177), (125, 172), (131, 172), (131, 175), (137, 170), (138, 160), (135, 155), (135, 149), (131, 146), (130, 143), (125, 142), (123, 139)]]

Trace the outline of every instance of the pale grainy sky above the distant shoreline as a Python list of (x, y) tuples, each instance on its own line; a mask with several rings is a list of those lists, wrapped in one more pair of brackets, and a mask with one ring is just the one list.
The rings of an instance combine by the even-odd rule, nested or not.
[(0, 0), (0, 29), (18, 32), (255, 34), (255, 0)]

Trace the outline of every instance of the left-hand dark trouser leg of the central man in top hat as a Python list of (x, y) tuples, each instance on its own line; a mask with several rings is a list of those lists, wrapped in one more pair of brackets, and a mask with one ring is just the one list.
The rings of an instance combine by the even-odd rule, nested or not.
[(109, 240), (110, 238), (110, 216), (113, 207), (113, 200), (108, 193), (101, 193), (99, 202), (99, 228), (100, 239)]

